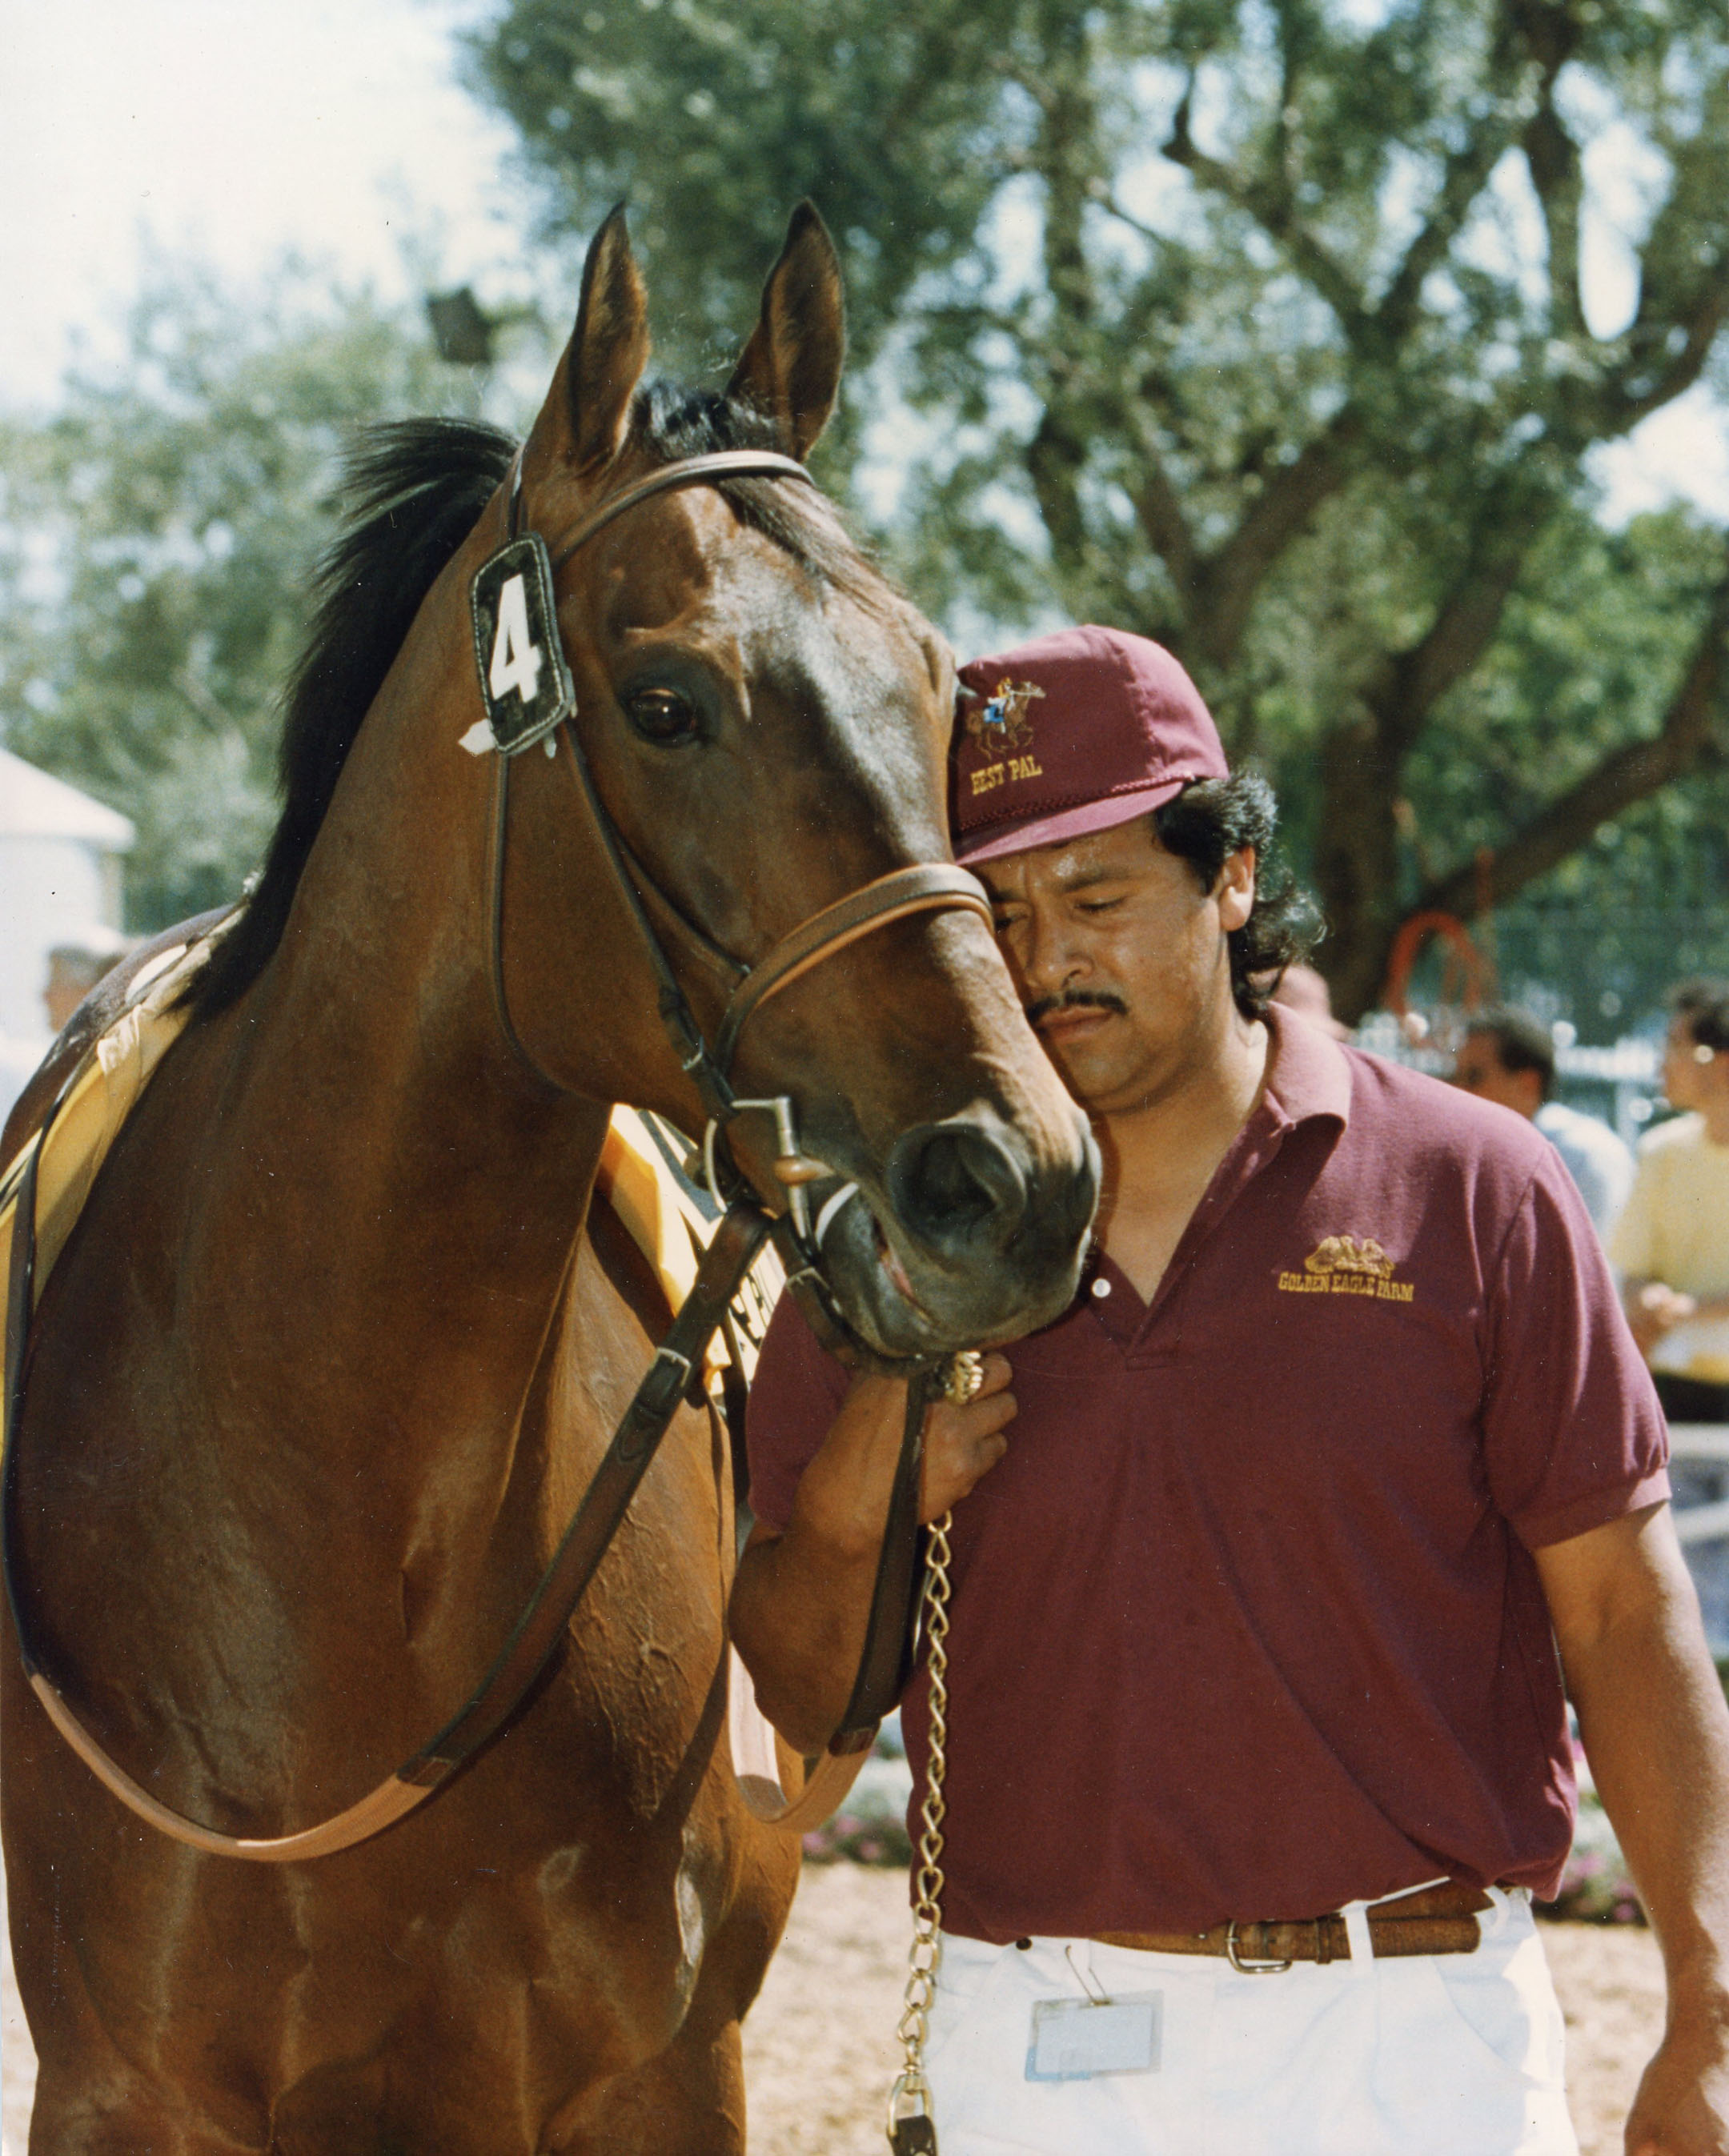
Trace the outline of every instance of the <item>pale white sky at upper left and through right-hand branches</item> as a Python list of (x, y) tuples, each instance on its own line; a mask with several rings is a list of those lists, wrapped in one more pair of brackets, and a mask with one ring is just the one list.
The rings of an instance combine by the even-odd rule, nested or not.
[[(0, 407), (43, 407), (80, 345), (97, 362), (119, 351), (147, 237), (241, 287), (293, 246), (386, 298), (418, 295), (405, 237), (487, 304), (537, 282), (511, 132), (455, 82), (453, 30), (489, 11), (0, 0)], [(1623, 190), (1602, 179), (1613, 211)], [(1589, 252), (1587, 285), (1613, 313), (1613, 233)], [(1602, 470), (1613, 513), (1679, 492), (1729, 515), (1729, 418), (1695, 392)]]

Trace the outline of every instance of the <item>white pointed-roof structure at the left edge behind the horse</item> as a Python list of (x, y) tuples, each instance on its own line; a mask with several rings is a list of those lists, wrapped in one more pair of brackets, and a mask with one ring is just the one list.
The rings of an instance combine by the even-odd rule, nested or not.
[(54, 944), (93, 923), (121, 927), (121, 865), (136, 832), (65, 778), (0, 748), (0, 1035), (47, 1033)]

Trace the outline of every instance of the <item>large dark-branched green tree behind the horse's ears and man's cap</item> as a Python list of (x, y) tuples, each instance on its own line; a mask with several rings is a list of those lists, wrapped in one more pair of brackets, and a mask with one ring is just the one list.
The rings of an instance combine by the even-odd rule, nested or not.
[[(636, 205), (683, 364), (815, 196), (836, 470), (959, 634), (1186, 658), (1296, 800), (1343, 1009), (1412, 906), (1507, 901), (1716, 755), (1723, 537), (1597, 533), (1591, 455), (1725, 375), (1720, 0), (507, 0), (474, 73), (550, 235)], [(1593, 326), (1617, 144), (1638, 298)]]

